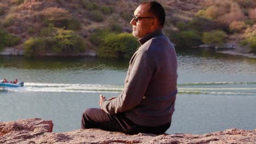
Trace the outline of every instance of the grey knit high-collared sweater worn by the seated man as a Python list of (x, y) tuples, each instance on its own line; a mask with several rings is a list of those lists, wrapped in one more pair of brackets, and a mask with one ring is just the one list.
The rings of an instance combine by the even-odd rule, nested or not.
[(138, 40), (123, 92), (101, 107), (110, 114), (124, 112), (132, 122), (154, 127), (172, 121), (177, 94), (177, 57), (170, 40), (157, 29)]

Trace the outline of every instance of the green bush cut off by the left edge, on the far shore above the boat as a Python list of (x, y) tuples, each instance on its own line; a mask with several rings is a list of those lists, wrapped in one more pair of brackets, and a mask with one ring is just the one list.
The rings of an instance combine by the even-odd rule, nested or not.
[(7, 32), (0, 29), (0, 51), (7, 46), (15, 46), (19, 43), (20, 37), (15, 35), (10, 35)]

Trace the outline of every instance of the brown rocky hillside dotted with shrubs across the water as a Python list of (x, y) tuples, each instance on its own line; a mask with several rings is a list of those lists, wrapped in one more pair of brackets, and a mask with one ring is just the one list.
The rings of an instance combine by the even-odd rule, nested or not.
[[(109, 41), (105, 39), (109, 37), (108, 33), (131, 33), (131, 14), (139, 2), (141, 1), (0, 1), (0, 51), (2, 55), (9, 53), (26, 56), (81, 55), (88, 51), (98, 51), (96, 47), (106, 45), (104, 42)], [(256, 52), (254, 0), (158, 2), (166, 9), (164, 31), (176, 47), (186, 48), (203, 43), (222, 45), (226, 40), (233, 40), (232, 44), (249, 46), (252, 52)], [(127, 35), (117, 37), (133, 41)], [(5, 49), (6, 47), (9, 48)], [(117, 51), (113, 53), (126, 53), (118, 47), (114, 49), (116, 48)], [(132, 53), (133, 50), (127, 51)], [(106, 51), (100, 49), (97, 53)], [(103, 55), (105, 56), (109, 57)]]

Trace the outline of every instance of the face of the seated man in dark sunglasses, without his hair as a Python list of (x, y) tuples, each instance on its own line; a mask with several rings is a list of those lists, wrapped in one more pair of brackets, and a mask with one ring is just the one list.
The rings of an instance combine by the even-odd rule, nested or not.
[[(138, 8), (134, 11), (134, 15), (137, 17), (153, 17), (149, 13), (149, 4), (139, 5)], [(152, 31), (152, 23), (154, 19), (138, 19), (138, 22), (135, 19), (131, 20), (132, 25), (132, 35), (136, 38), (142, 38), (144, 35), (147, 35)]]

